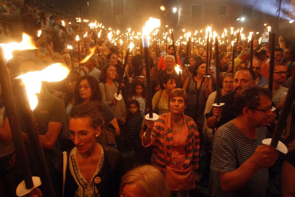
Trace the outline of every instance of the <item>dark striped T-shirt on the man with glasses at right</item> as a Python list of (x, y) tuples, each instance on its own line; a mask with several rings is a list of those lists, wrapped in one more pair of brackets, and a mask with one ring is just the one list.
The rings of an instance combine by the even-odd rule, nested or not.
[[(239, 168), (255, 152), (262, 140), (266, 139), (266, 127), (257, 128), (255, 139), (247, 137), (232, 121), (217, 129), (212, 140), (211, 178), (212, 196), (266, 196), (268, 188), (268, 168), (260, 168), (242, 188), (225, 193), (220, 185), (219, 173), (227, 173)], [(241, 177), (242, 178), (242, 177)]]

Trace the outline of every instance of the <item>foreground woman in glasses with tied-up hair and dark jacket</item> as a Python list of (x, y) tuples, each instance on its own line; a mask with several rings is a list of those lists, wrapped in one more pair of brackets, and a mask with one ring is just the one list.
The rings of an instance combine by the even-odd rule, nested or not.
[(119, 195), (119, 184), (124, 175), (122, 157), (117, 150), (97, 143), (104, 126), (101, 107), (99, 101), (73, 106), (68, 135), (75, 147), (66, 151), (66, 157), (60, 153), (55, 158), (51, 174), (55, 196)]

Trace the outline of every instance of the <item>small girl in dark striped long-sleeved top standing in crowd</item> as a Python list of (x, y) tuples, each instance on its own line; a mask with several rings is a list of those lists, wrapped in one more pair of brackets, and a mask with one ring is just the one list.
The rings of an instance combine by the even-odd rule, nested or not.
[(143, 116), (140, 112), (140, 105), (137, 100), (131, 100), (128, 102), (127, 105), (127, 119), (126, 119), (126, 126), (127, 126), (127, 133), (128, 138), (130, 140), (130, 144), (135, 151), (135, 165), (140, 165), (141, 163), (141, 148), (140, 148), (140, 130), (141, 124), (143, 121)]

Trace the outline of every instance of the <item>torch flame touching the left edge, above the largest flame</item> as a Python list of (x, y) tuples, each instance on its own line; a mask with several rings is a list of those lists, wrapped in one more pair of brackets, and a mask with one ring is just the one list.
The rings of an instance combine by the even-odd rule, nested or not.
[(25, 33), (22, 34), (22, 42), (11, 42), (8, 44), (0, 44), (0, 46), (3, 48), (4, 58), (6, 61), (13, 57), (12, 51), (14, 50), (37, 49), (35, 44), (33, 44), (32, 38)]

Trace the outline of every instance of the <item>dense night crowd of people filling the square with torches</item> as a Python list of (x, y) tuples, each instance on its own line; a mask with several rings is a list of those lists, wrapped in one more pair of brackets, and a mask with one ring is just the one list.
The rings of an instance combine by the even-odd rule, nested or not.
[[(4, 5), (12, 7), (11, 1)], [(174, 51), (173, 45), (166, 50), (161, 44), (157, 54), (152, 42), (146, 65), (140, 43), (126, 58), (128, 40), (115, 45), (105, 34), (96, 37), (87, 24), (32, 7), (25, 3), (21, 17), (24, 32), (35, 39), (35, 59), (17, 52), (7, 64), (12, 79), (53, 63), (70, 70), (60, 82), (42, 82), (34, 110), (56, 196), (197, 196), (198, 185), (209, 187), (212, 196), (275, 196), (272, 187), (281, 196), (295, 196), (294, 104), (281, 128), (280, 140), (288, 145), (288, 154), (262, 144), (273, 134), (294, 76), (295, 47), (288, 47), (282, 36), (274, 50), (271, 92), (267, 31), (261, 44), (253, 42), (252, 68), (246, 42), (238, 43), (235, 57), (230, 46), (219, 51), (219, 62), (214, 50), (207, 53), (206, 47), (194, 43), (189, 43), (191, 53), (185, 47)], [(40, 37), (36, 27), (42, 31)], [(177, 64), (181, 75), (175, 70)], [(152, 92), (148, 92), (147, 66)], [(222, 107), (213, 106), (217, 83)], [(15, 196), (23, 180), (22, 166), (6, 103), (0, 99), (0, 193)], [(149, 110), (159, 115), (158, 120), (145, 119)], [(40, 176), (26, 132), (22, 136), (32, 175)], [(128, 162), (122, 157), (126, 152), (132, 155)], [(46, 186), (29, 195), (42, 196), (42, 187)]]

